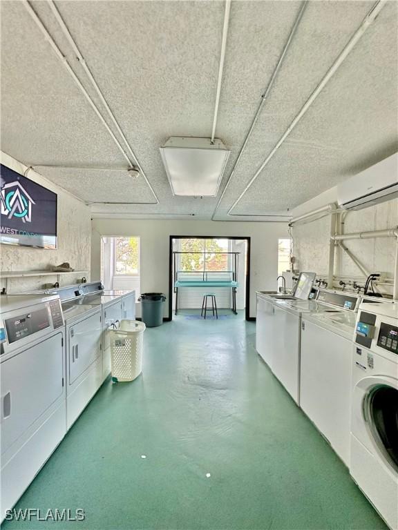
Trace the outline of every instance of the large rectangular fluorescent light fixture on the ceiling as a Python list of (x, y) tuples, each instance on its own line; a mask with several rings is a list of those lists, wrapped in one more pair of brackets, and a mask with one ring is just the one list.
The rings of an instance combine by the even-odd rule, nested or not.
[(160, 154), (173, 195), (216, 197), (230, 153), (217, 138), (170, 137)]

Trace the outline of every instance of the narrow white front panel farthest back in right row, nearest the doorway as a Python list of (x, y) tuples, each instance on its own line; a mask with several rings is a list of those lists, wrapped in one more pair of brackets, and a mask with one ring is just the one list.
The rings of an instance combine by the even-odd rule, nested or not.
[(274, 344), (274, 304), (257, 296), (256, 350), (272, 369)]

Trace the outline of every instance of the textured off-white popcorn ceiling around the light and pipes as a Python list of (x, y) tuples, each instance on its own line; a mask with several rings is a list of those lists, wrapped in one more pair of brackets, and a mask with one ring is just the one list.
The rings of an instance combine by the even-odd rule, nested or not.
[[(31, 5), (106, 116), (48, 3)], [(37, 170), (96, 203), (93, 215), (211, 217), (221, 191), (216, 199), (173, 197), (159, 147), (169, 136), (211, 135), (224, 3), (62, 0), (56, 5), (160, 204), (99, 204), (153, 202), (144, 179), (135, 181), (123, 170)], [(231, 156), (220, 190), (300, 7), (296, 1), (232, 1), (216, 128)], [(227, 212), (371, 7), (370, 1), (307, 3), (216, 219), (246, 219)], [(23, 3), (1, 1), (0, 9), (1, 149), (27, 165), (127, 168)], [(231, 213), (286, 213), (397, 150), (397, 28), (397, 3), (387, 2)]]

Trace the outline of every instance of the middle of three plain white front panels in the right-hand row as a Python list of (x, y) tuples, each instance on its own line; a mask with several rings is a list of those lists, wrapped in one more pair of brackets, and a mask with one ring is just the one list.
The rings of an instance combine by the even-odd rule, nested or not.
[(299, 315), (274, 307), (272, 371), (299, 404), (300, 381)]

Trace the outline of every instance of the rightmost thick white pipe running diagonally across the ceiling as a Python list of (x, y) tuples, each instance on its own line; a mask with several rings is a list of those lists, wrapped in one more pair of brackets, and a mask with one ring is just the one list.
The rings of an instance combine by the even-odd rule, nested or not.
[(263, 163), (260, 165), (258, 170), (256, 170), (256, 173), (254, 173), (254, 176), (252, 179), (250, 179), (247, 186), (245, 186), (245, 189), (242, 193), (240, 193), (238, 199), (232, 204), (231, 208), (229, 208), (227, 215), (231, 215), (231, 211), (236, 207), (236, 205), (240, 202), (240, 200), (243, 198), (243, 196), (247, 193), (247, 190), (251, 188), (252, 184), (254, 184), (254, 181), (256, 181), (258, 175), (263, 171), (265, 166), (269, 163), (269, 161), (274, 157), (276, 151), (281, 147), (281, 145), (284, 143), (285, 139), (292, 133), (292, 130), (296, 127), (296, 125), (299, 123), (301, 118), (306, 114), (307, 110), (312, 106), (316, 98), (319, 96), (319, 94), (322, 92), (323, 88), (328, 84), (330, 79), (332, 79), (333, 75), (339, 70), (341, 64), (345, 59), (350, 55), (350, 52), (356, 46), (357, 42), (361, 39), (363, 34), (366, 32), (366, 30), (369, 28), (369, 26), (372, 24), (373, 21), (377, 18), (377, 15), (381, 11), (381, 9), (384, 6), (384, 3), (386, 3), (387, 0), (377, 0), (375, 4), (373, 4), (372, 9), (368, 12), (366, 17), (363, 19), (361, 26), (357, 29), (356, 32), (354, 32), (354, 35), (350, 38), (348, 43), (343, 48), (343, 51), (339, 54), (337, 59), (335, 59), (332, 66), (329, 68), (328, 72), (323, 76), (321, 79), (321, 82), (316, 86), (315, 90), (312, 92), (310, 97), (305, 101), (305, 104), (299, 111), (299, 113), (296, 115), (290, 126), (285, 130), (285, 133), (283, 133), (282, 137), (278, 140), (276, 146), (272, 149), (271, 153), (267, 156), (267, 158), (263, 161)]

